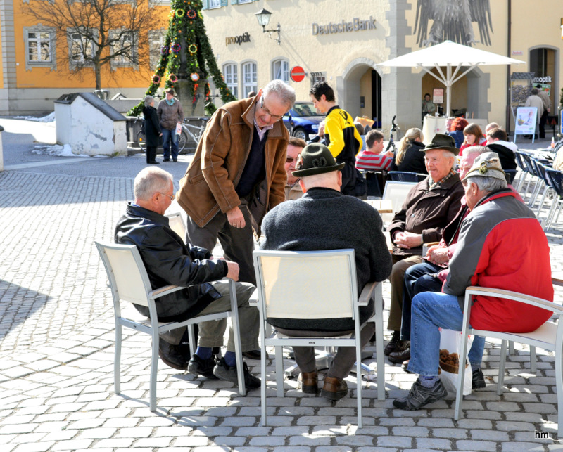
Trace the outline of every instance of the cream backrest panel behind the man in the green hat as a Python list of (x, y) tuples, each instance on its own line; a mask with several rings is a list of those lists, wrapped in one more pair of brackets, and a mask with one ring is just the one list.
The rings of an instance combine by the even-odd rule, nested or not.
[(354, 250), (253, 253), (265, 318), (355, 318)]

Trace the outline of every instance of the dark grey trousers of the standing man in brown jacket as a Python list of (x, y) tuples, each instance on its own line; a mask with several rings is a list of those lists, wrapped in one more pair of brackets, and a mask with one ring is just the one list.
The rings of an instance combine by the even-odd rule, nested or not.
[(240, 206), (246, 226), (234, 228), (227, 221), (227, 214), (218, 212), (208, 224), (200, 228), (188, 215), (186, 240), (192, 245), (213, 251), (217, 238), (223, 248), (223, 256), (227, 261), (239, 264), (239, 281), (256, 285), (256, 275), (252, 252), (254, 250), (254, 236), (251, 226), (251, 214), (248, 206)]

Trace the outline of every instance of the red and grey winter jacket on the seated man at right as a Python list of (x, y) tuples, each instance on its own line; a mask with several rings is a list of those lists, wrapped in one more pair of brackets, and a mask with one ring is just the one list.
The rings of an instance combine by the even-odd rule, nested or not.
[[(553, 301), (548, 239), (531, 209), (509, 189), (479, 201), (461, 226), (443, 292), (457, 295), (463, 309), (470, 285)], [(469, 322), (483, 330), (531, 332), (550, 316), (529, 304), (479, 295)]]

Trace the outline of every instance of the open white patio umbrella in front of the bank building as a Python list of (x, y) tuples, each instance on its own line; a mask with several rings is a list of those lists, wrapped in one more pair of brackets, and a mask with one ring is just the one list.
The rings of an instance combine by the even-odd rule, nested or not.
[[(498, 55), (484, 50), (474, 49), (473, 47), (455, 44), (452, 41), (444, 41), (442, 44), (426, 47), (426, 49), (417, 50), (398, 56), (392, 60), (379, 63), (379, 66), (387, 67), (419, 67), (428, 72), (432, 77), (445, 85), (447, 96), (446, 115), (450, 115), (450, 88), (461, 79), (467, 72), (473, 70), (477, 66), (486, 65), (518, 65), (524, 61), (508, 58), (507, 56)], [(446, 73), (444, 75), (441, 67), (445, 66)], [(467, 66), (467, 70), (460, 72), (462, 66)], [(436, 67), (438, 75), (431, 72), (429, 67)]]

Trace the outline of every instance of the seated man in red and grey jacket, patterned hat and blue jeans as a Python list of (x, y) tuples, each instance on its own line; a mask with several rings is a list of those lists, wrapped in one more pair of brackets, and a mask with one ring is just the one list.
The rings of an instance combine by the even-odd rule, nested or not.
[[(480, 155), (463, 185), (471, 212), (460, 228), (443, 292), (422, 292), (412, 299), (408, 370), (419, 378), (406, 397), (393, 401), (396, 408), (417, 410), (448, 394), (438, 378), (438, 328), (462, 330), (467, 287), (512, 290), (553, 301), (548, 240), (531, 209), (507, 188), (498, 155)], [(531, 332), (550, 316), (535, 306), (477, 296), (469, 322), (476, 329)]]

